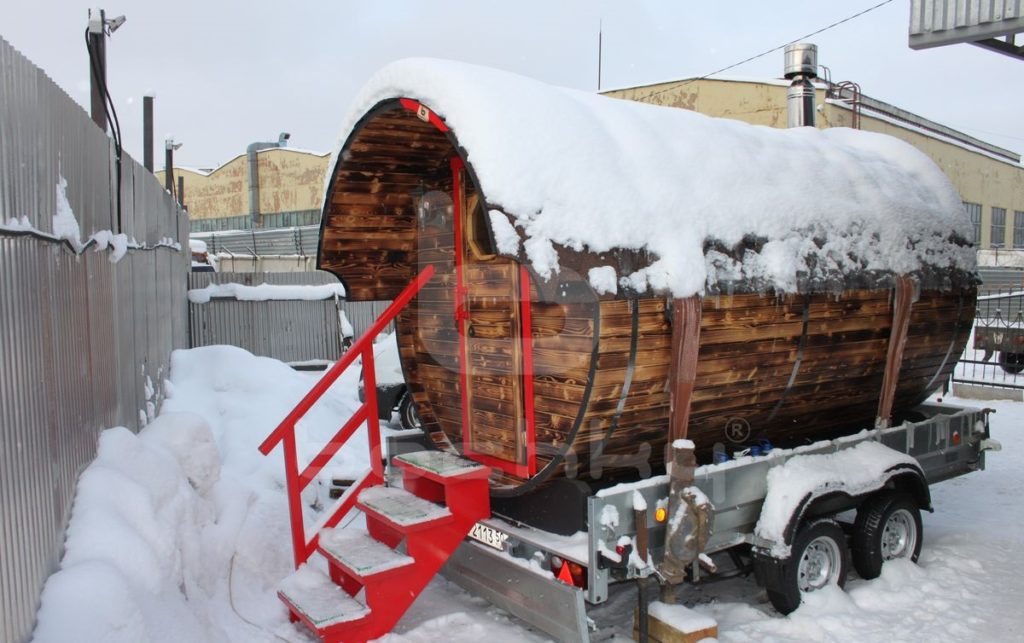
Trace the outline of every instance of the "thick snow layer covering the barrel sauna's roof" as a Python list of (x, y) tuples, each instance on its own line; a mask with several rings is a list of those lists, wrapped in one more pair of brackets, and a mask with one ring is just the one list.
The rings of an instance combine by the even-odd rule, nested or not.
[(561, 269), (560, 253), (621, 249), (650, 260), (591, 269), (599, 293), (684, 297), (743, 281), (793, 292), (808, 274), (975, 266), (973, 249), (950, 242), (971, 232), (956, 189), (928, 157), (886, 135), (753, 126), (413, 58), (364, 87), (342, 144), (369, 110), (397, 97), (452, 129), (499, 252), (545, 278)]

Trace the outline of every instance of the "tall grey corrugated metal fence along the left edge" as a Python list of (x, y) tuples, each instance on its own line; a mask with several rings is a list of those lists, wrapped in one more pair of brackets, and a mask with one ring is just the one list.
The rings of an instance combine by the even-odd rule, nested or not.
[[(84, 62), (83, 62), (84, 65)], [(81, 470), (100, 430), (137, 430), (184, 347), (188, 221), (127, 156), (0, 39), (0, 640), (31, 635)], [(60, 185), (66, 183), (61, 192)], [(61, 194), (81, 242), (54, 229)], [(112, 262), (96, 232), (131, 243)], [(56, 234), (55, 234), (56, 232)], [(75, 238), (75, 234), (70, 234)], [(77, 240), (76, 240), (77, 241)]]

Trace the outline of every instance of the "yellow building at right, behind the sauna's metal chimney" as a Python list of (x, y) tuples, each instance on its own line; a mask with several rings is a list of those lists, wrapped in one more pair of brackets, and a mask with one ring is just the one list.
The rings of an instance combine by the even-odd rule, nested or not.
[[(787, 81), (691, 79), (604, 94), (754, 125), (786, 127), (788, 85)], [(818, 86), (817, 127), (853, 125), (850, 94), (845, 97), (830, 97), (824, 85)], [(866, 96), (861, 97), (857, 112), (860, 129), (905, 140), (942, 168), (972, 213), (976, 243), (983, 255), (993, 248), (1016, 249), (1024, 255), (1024, 166), (1020, 155)]]

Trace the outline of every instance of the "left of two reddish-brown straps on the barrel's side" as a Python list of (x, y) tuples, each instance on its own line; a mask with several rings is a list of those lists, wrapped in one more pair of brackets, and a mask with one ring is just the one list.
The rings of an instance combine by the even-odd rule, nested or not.
[(686, 437), (690, 422), (690, 398), (697, 375), (697, 349), (700, 344), (700, 297), (693, 295), (672, 300), (672, 368), (669, 390), (672, 412), (669, 419), (669, 444)]

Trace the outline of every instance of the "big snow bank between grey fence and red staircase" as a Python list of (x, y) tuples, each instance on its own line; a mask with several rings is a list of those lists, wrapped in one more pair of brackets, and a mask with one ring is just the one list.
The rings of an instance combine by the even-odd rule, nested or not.
[[(357, 406), (357, 377), (299, 423), (300, 467)], [(137, 436), (103, 432), (82, 474), (36, 640), (273, 641), (279, 629), (301, 640), (276, 597), (292, 570), (282, 449), (257, 446), (311, 385), (240, 348), (175, 351), (162, 414)], [(360, 430), (324, 475), (350, 479), (368, 454)], [(326, 491), (308, 490), (311, 525)]]

